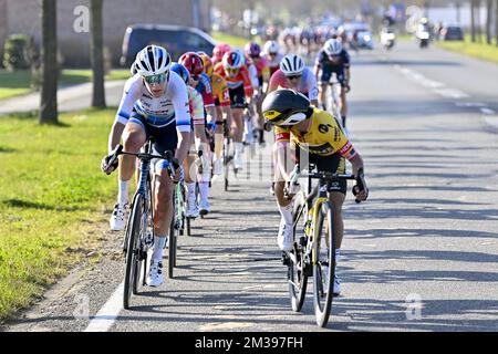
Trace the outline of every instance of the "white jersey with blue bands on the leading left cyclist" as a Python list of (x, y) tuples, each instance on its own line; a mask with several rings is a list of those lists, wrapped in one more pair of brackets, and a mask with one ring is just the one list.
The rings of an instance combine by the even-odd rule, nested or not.
[(126, 124), (135, 110), (155, 127), (164, 127), (176, 122), (178, 132), (190, 132), (190, 108), (187, 85), (181, 77), (170, 71), (169, 81), (160, 97), (153, 97), (139, 74), (126, 81), (116, 121)]

